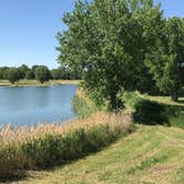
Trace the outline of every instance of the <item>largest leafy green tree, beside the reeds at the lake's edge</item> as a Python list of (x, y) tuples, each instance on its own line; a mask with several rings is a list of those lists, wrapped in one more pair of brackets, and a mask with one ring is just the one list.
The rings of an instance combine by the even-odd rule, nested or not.
[(78, 1), (63, 21), (68, 30), (58, 34), (59, 61), (82, 72), (96, 103), (109, 102), (113, 110), (122, 90), (145, 90), (151, 75), (144, 60), (162, 23), (160, 6), (152, 0)]

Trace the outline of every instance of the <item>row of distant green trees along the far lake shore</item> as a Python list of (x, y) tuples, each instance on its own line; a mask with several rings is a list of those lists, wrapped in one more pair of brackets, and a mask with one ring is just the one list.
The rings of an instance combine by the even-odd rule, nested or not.
[(1, 67), (0, 80), (9, 80), (14, 83), (19, 80), (38, 80), (41, 83), (49, 80), (78, 80), (81, 79), (79, 72), (72, 71), (67, 67), (60, 67), (58, 69), (49, 70), (45, 65), (33, 65), (29, 68), (22, 64), (16, 67)]

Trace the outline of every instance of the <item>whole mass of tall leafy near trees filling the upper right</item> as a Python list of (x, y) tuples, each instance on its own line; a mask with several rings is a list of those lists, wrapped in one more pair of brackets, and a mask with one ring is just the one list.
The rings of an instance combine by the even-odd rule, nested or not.
[(184, 85), (184, 19), (164, 18), (153, 0), (92, 0), (65, 13), (59, 61), (81, 71), (96, 104), (119, 109), (123, 91), (177, 101)]

